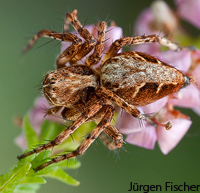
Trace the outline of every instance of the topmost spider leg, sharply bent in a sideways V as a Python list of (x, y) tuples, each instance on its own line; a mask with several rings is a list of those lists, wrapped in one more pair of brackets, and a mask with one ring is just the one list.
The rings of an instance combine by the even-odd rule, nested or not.
[(86, 56), (95, 46), (95, 39), (90, 32), (85, 29), (73, 13), (67, 13), (66, 18), (72, 23), (74, 29), (85, 39), (85, 43), (80, 46), (78, 53), (71, 59), (70, 63), (77, 62)]

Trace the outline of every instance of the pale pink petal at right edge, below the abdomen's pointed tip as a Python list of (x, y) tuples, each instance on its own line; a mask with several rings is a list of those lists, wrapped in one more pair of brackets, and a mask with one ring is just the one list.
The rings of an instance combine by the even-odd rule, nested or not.
[(170, 99), (169, 103), (179, 107), (197, 107), (200, 104), (200, 91), (194, 84), (191, 84), (181, 89), (178, 92), (177, 98)]

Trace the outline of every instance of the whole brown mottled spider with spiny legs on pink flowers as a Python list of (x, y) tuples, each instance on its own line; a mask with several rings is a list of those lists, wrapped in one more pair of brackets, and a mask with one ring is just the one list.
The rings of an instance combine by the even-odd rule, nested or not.
[[(193, 77), (184, 75), (176, 68), (148, 54), (136, 51), (118, 53), (123, 46), (154, 42), (172, 50), (180, 49), (166, 38), (158, 35), (120, 38), (112, 43), (101, 60), (106, 22), (99, 23), (98, 37), (95, 41), (89, 31), (79, 22), (75, 11), (67, 13), (66, 17), (85, 40), (84, 43), (78, 36), (68, 32), (57, 33), (41, 30), (29, 41), (24, 51), (31, 48), (39, 37), (71, 42), (71, 45), (58, 57), (57, 69), (45, 76), (43, 94), (52, 106), (47, 110), (48, 115), (53, 115), (63, 108), (61, 112), (63, 118), (74, 122), (54, 140), (18, 158), (22, 159), (59, 145), (85, 122), (95, 121), (97, 126), (76, 150), (52, 158), (38, 166), (36, 171), (50, 164), (82, 155), (99, 135), (104, 138), (102, 133), (111, 139), (110, 142), (105, 142), (109, 149), (120, 148), (123, 144), (122, 134), (111, 124), (116, 106), (123, 108), (140, 121), (145, 120), (154, 124), (136, 107), (150, 104), (194, 83)], [(93, 53), (87, 57), (85, 64), (80, 65), (78, 62), (92, 50)], [(100, 60), (100, 66), (94, 69), (94, 64)], [(66, 63), (70, 63), (70, 66), (66, 67)], [(171, 123), (168, 122), (165, 127), (169, 129)]]

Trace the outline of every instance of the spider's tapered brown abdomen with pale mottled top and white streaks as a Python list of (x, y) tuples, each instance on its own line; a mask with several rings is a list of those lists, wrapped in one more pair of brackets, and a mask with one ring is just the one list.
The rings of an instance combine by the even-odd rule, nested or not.
[(101, 85), (134, 106), (144, 106), (177, 92), (188, 81), (176, 68), (141, 52), (122, 52), (108, 59)]

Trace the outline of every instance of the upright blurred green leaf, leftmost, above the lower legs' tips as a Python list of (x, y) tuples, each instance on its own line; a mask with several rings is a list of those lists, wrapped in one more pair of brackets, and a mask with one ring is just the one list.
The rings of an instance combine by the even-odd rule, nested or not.
[(24, 135), (26, 136), (27, 147), (30, 150), (39, 143), (39, 139), (34, 129), (29, 123), (29, 117), (26, 115), (23, 119), (22, 125)]

